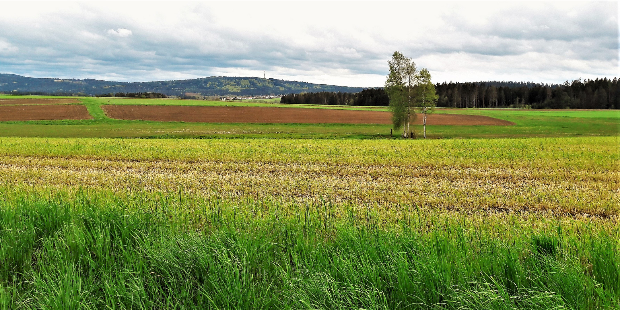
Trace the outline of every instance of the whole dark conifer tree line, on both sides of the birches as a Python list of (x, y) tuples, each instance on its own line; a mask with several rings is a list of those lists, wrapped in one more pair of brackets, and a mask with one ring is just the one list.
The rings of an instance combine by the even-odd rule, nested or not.
[[(435, 84), (437, 107), (454, 108), (620, 108), (620, 81), (576, 79), (564, 84), (533, 82), (443, 82)], [(285, 95), (281, 103), (389, 105), (382, 88), (361, 92), (304, 92)]]

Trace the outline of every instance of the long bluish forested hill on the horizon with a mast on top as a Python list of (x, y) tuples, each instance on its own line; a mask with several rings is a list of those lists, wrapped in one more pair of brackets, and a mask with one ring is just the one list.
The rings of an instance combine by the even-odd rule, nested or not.
[(116, 92), (159, 92), (165, 95), (283, 95), (300, 92), (359, 92), (347, 87), (281, 79), (211, 76), (210, 78), (157, 82), (110, 82), (96, 79), (27, 78), (0, 74), (0, 92), (101, 95)]

